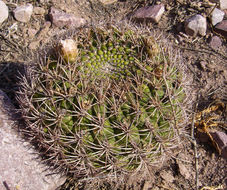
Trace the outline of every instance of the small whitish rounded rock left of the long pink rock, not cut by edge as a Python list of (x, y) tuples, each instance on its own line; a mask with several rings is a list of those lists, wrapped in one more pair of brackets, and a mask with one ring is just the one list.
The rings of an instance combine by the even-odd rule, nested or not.
[(32, 4), (18, 6), (14, 11), (14, 17), (19, 22), (28, 22), (32, 16)]

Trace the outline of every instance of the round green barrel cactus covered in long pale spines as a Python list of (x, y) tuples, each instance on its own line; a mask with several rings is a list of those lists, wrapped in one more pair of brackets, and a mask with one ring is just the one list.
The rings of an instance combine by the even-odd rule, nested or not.
[(73, 58), (57, 45), (21, 83), (29, 135), (75, 180), (145, 170), (179, 137), (185, 93), (171, 56), (133, 29), (83, 28), (71, 40)]

